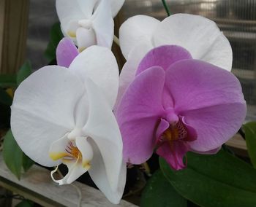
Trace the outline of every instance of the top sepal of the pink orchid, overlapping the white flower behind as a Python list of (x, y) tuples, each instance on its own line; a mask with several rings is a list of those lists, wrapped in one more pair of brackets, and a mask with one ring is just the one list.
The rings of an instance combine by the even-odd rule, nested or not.
[(165, 71), (178, 60), (192, 59), (190, 53), (183, 47), (176, 45), (164, 45), (149, 51), (141, 60), (136, 75), (152, 66), (160, 66)]

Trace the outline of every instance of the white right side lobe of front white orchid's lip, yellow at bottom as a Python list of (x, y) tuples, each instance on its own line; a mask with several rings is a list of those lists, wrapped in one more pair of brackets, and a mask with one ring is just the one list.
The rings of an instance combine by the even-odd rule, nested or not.
[(82, 154), (83, 157), (83, 168), (90, 168), (91, 166), (91, 160), (94, 156), (94, 152), (91, 148), (91, 144), (87, 141), (86, 137), (77, 137), (75, 139), (75, 144), (77, 145), (79, 151)]

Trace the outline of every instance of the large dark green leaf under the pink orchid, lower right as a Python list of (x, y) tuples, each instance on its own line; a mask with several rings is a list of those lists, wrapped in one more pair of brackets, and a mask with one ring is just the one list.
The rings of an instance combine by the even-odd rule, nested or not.
[(160, 168), (173, 187), (188, 200), (207, 207), (256, 206), (256, 171), (220, 150), (217, 155), (187, 153), (188, 166), (173, 171), (160, 158)]

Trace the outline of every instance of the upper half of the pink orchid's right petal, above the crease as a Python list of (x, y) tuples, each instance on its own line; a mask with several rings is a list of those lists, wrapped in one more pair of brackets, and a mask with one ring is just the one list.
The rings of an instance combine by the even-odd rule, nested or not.
[(233, 74), (200, 60), (174, 63), (166, 71), (165, 82), (178, 114), (219, 104), (245, 104), (241, 84)]

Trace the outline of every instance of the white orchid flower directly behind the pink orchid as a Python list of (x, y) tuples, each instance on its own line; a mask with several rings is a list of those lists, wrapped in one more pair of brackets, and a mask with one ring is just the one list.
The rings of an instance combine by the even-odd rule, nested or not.
[(120, 27), (121, 52), (127, 59), (120, 74), (117, 104), (135, 77), (140, 60), (154, 47), (173, 44), (184, 47), (192, 58), (228, 71), (232, 68), (232, 49), (216, 23), (205, 17), (176, 14), (159, 20), (145, 15), (130, 17)]

